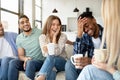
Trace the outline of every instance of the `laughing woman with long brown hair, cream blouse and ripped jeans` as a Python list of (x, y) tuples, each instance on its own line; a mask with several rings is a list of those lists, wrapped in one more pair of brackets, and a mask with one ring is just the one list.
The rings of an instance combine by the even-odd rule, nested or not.
[(38, 73), (37, 80), (55, 80), (56, 72), (64, 71), (67, 57), (65, 53), (67, 36), (61, 33), (59, 17), (54, 15), (48, 17), (39, 41), (46, 60)]

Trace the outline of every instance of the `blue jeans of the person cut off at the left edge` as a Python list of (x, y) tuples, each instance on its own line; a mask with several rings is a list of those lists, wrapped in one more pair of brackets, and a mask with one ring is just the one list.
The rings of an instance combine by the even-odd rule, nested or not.
[(9, 67), (9, 62), (14, 58), (11, 57), (4, 57), (1, 59), (1, 71), (0, 71), (0, 80), (8, 80), (8, 67)]

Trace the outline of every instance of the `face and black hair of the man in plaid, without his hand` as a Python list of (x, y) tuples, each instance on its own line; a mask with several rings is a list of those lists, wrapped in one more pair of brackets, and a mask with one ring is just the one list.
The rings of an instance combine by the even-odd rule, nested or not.
[(83, 12), (79, 17), (78, 20), (86, 18), (86, 21), (83, 25), (83, 31), (87, 33), (89, 36), (97, 38), (99, 35), (99, 27), (96, 23), (94, 16), (92, 16), (91, 12)]

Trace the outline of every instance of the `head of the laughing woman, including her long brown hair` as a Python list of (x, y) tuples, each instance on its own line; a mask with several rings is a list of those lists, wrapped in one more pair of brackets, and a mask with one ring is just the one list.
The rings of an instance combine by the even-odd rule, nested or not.
[(47, 35), (50, 39), (53, 35), (56, 36), (56, 42), (58, 42), (61, 35), (61, 20), (58, 16), (50, 15), (43, 28), (42, 34)]

